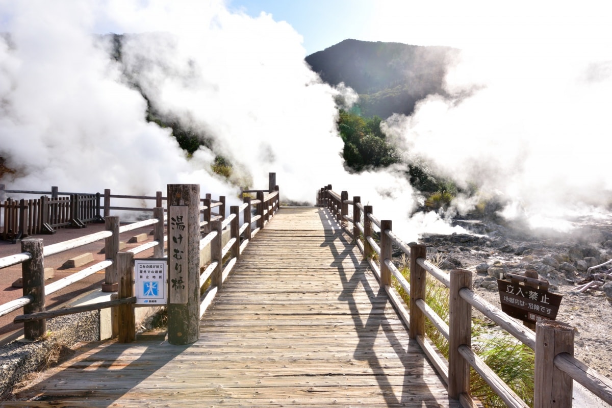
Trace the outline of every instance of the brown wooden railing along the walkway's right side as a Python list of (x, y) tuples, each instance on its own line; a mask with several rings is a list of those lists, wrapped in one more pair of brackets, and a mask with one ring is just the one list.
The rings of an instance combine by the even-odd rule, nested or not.
[[(507, 406), (528, 407), (472, 350), (472, 307), (535, 351), (535, 408), (571, 407), (572, 380), (612, 405), (612, 381), (573, 357), (573, 327), (556, 321), (540, 321), (534, 333), (474, 293), (472, 272), (454, 269), (447, 273), (438, 269), (427, 261), (427, 248), (424, 245), (403, 242), (392, 231), (392, 221), (376, 218), (372, 207), (363, 206), (360, 197), (349, 200), (347, 191), (338, 194), (328, 185), (318, 191), (316, 200), (319, 206), (328, 207), (347, 231), (358, 238), (357, 246), (409, 327), (410, 337), (417, 340), (447, 382), (449, 396), (458, 399), (463, 407), (476, 406), (469, 390), (470, 367), (480, 374)], [(349, 206), (353, 206), (352, 212), (349, 212)], [(349, 224), (353, 226), (352, 229)], [(373, 234), (374, 226), (379, 230), (379, 243)], [(392, 262), (393, 245), (410, 258), (410, 282)], [(378, 263), (373, 260), (373, 253), (378, 254)], [(439, 317), (425, 302), (427, 273), (450, 289), (449, 322)], [(397, 294), (394, 283), (410, 294), (409, 305), (405, 305)], [(406, 313), (406, 309), (409, 313)], [(441, 354), (427, 340), (425, 317), (449, 341), (448, 360), (439, 357)]]

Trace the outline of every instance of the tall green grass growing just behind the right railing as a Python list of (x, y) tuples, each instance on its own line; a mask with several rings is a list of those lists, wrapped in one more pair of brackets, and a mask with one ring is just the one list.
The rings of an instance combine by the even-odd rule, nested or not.
[[(435, 260), (432, 262), (436, 263)], [(403, 262), (401, 273), (406, 280), (410, 280), (408, 262)], [(409, 294), (398, 284), (395, 284), (395, 289), (404, 302), (409, 304)], [(427, 276), (425, 302), (447, 324), (449, 323), (449, 289), (430, 276)], [(428, 319), (425, 320), (425, 333), (444, 357), (448, 358), (447, 339)], [(533, 406), (534, 351), (509, 333), (491, 330), (488, 322), (475, 317), (472, 317), (472, 349), (523, 401), (530, 407)], [(485, 408), (506, 407), (506, 404), (474, 369), (471, 369), (469, 384), (472, 395), (479, 399)]]

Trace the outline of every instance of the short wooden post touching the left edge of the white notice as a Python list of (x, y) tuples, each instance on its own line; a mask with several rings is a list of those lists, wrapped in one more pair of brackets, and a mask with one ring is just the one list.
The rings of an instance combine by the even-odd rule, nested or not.
[[(134, 296), (134, 254), (119, 252), (117, 254), (119, 271), (118, 298), (128, 299)], [(132, 303), (118, 306), (119, 343), (132, 343), (136, 340), (136, 316)]]

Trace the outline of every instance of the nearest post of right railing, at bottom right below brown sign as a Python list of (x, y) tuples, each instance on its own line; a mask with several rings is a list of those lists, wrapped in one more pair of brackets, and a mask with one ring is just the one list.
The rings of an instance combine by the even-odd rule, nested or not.
[(572, 408), (572, 377), (556, 368), (554, 357), (573, 352), (572, 326), (551, 320), (535, 324), (534, 408)]

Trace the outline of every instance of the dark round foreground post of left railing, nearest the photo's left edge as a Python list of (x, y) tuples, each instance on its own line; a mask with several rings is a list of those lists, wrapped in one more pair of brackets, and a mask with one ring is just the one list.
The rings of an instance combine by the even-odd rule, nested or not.
[[(32, 257), (21, 264), (23, 295), (32, 298), (32, 302), (23, 306), (23, 314), (45, 311), (45, 262), (42, 239), (22, 240), (21, 252), (28, 252)], [(35, 340), (44, 335), (46, 331), (47, 321), (45, 319), (23, 324), (23, 334), (26, 340)]]

